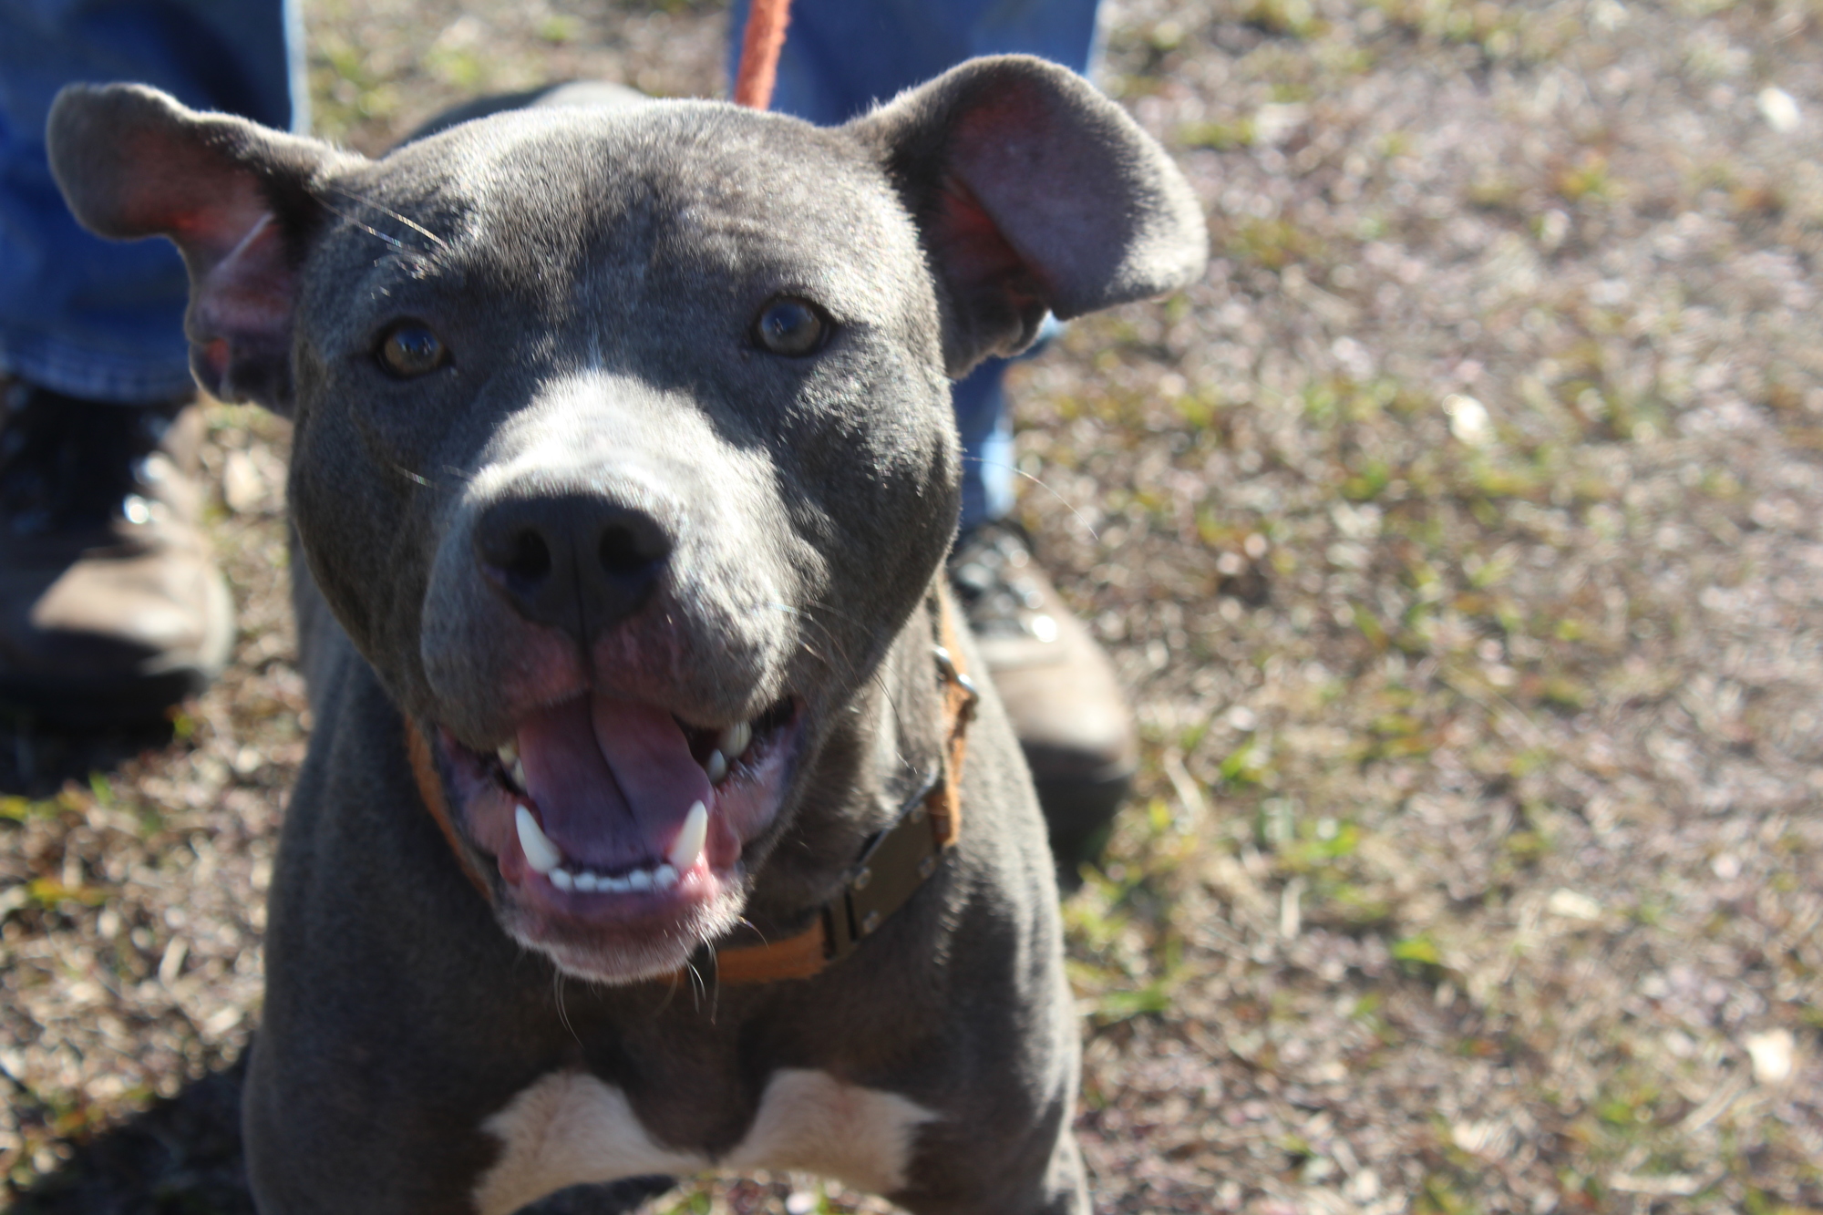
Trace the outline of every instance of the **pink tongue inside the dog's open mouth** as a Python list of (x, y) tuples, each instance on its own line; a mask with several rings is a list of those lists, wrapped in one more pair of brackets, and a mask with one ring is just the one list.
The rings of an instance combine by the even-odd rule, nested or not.
[(572, 865), (618, 872), (662, 861), (709, 774), (671, 713), (578, 697), (520, 724), (525, 792)]

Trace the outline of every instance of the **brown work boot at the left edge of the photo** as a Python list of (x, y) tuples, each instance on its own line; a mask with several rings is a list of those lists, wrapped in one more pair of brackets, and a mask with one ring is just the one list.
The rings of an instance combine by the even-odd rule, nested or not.
[(0, 379), (0, 702), (155, 721), (221, 673), (233, 606), (197, 527), (202, 416)]

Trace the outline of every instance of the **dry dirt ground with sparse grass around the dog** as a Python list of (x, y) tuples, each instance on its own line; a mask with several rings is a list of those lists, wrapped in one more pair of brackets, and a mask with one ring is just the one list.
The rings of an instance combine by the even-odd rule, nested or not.
[[(306, 15), (368, 151), (485, 89), (722, 88), (715, 4)], [(1066, 905), (1097, 1210), (1823, 1211), (1823, 5), (1107, 18), (1218, 255), (1015, 372), (1023, 518), (1145, 735)], [(310, 722), (284, 431), (211, 418), (233, 671), (148, 737), (0, 730), (7, 1210), (248, 1210)]]

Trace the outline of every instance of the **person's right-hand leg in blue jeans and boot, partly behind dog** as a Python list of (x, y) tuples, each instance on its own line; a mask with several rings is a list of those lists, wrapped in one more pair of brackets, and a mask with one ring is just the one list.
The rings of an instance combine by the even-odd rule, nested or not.
[[(738, 0), (735, 57), (744, 27)], [(1096, 0), (793, 0), (773, 108), (844, 122), (964, 58), (995, 53), (1041, 55), (1087, 75)], [(1127, 795), (1138, 742), (1112, 664), (1010, 520), (1004, 374), (1006, 361), (990, 359), (953, 389), (964, 463), (950, 576), (1032, 766), (1059, 874), (1072, 881)]]

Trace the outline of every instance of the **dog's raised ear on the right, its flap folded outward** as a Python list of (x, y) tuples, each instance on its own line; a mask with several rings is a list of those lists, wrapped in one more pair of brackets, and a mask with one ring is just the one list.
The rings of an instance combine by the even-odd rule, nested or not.
[(952, 376), (1201, 274), (1209, 232), (1150, 135), (1072, 71), (977, 58), (848, 128), (877, 150), (946, 294)]

